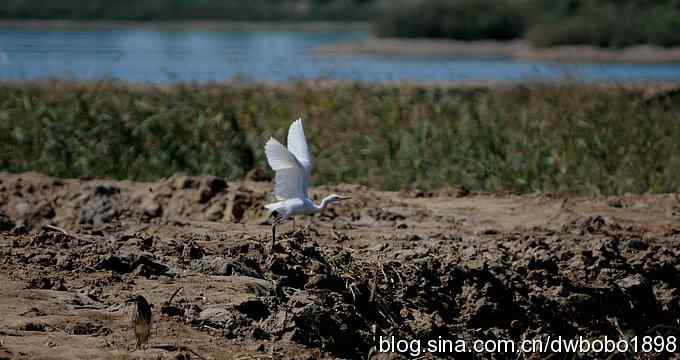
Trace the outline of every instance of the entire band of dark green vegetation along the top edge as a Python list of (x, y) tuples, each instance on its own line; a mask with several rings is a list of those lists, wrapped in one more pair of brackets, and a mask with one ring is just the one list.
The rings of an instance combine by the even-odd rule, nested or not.
[(390, 37), (680, 45), (680, 0), (3, 0), (0, 18), (371, 21)]

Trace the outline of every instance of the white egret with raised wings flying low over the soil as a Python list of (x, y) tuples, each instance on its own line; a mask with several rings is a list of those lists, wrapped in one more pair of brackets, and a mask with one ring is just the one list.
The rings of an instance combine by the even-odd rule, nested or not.
[(293, 215), (317, 214), (329, 204), (349, 199), (347, 196), (332, 194), (316, 205), (308, 196), (309, 174), (312, 171), (313, 159), (309, 153), (302, 119), (294, 121), (288, 129), (288, 148), (274, 138), (269, 138), (264, 146), (269, 166), (276, 172), (274, 182), (275, 203), (265, 205), (272, 221), (272, 252), (276, 244), (276, 226)]

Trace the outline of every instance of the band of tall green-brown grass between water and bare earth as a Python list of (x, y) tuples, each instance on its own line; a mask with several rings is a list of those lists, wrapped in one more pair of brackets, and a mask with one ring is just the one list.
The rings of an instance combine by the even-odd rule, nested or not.
[[(152, 180), (267, 169), (302, 116), (313, 183), (396, 190), (680, 191), (678, 108), (579, 84), (0, 85), (0, 170)], [(668, 104), (666, 104), (668, 105)]]

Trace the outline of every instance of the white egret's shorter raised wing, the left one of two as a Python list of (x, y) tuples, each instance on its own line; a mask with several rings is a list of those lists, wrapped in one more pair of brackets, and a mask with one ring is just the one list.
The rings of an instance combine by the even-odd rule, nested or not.
[(276, 172), (274, 194), (278, 200), (307, 196), (307, 171), (285, 146), (270, 138), (264, 146), (267, 161)]

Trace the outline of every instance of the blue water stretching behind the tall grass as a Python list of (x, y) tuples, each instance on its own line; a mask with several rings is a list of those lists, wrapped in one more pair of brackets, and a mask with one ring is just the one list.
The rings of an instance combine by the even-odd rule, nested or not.
[(320, 45), (362, 31), (0, 29), (0, 78), (133, 82), (287, 81), (327, 77), (382, 82), (461, 80), (680, 80), (680, 63), (563, 64), (456, 57), (321, 55)]

